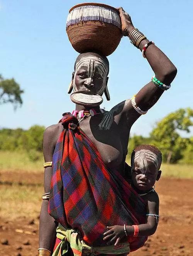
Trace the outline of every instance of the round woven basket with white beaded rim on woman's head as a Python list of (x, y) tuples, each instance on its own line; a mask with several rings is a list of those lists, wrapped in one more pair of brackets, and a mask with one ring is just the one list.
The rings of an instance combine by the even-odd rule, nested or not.
[(69, 10), (66, 32), (74, 50), (108, 56), (122, 37), (119, 11), (102, 3), (81, 3)]

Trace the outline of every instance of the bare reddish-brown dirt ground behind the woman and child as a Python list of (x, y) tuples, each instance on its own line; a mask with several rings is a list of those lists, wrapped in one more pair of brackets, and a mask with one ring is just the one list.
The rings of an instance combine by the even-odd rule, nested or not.
[[(20, 186), (42, 184), (42, 174), (17, 174)], [(0, 186), (12, 186), (12, 175), (3, 173)], [(21, 181), (22, 180), (22, 181)], [(30, 182), (29, 182), (30, 180)], [(193, 255), (193, 180), (164, 179), (156, 184), (160, 198), (157, 231), (132, 256)], [(1, 202), (3, 203), (3, 202)], [(35, 256), (38, 248), (39, 216), (8, 220), (0, 216), (0, 255)]]

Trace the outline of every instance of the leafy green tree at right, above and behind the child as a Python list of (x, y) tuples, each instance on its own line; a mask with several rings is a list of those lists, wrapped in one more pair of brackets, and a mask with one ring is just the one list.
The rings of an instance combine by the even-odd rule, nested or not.
[(180, 108), (157, 122), (156, 127), (152, 130), (151, 143), (161, 150), (163, 160), (168, 163), (176, 163), (183, 158), (187, 139), (182, 138), (179, 131), (190, 132), (190, 127), (193, 125), (192, 117), (193, 109)]

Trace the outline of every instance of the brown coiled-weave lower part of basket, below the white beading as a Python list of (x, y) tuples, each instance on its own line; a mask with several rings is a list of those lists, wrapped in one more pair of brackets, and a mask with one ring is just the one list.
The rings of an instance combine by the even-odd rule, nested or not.
[(66, 31), (77, 52), (99, 52), (104, 56), (115, 51), (122, 36), (118, 27), (100, 21), (87, 21), (68, 26)]

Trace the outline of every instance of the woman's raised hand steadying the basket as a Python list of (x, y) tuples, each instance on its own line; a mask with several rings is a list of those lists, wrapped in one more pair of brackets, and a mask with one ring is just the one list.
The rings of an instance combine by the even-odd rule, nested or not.
[(117, 8), (119, 10), (121, 24), (122, 24), (122, 34), (128, 36), (130, 31), (134, 29), (134, 26), (131, 21), (130, 15), (124, 11), (122, 7)]

